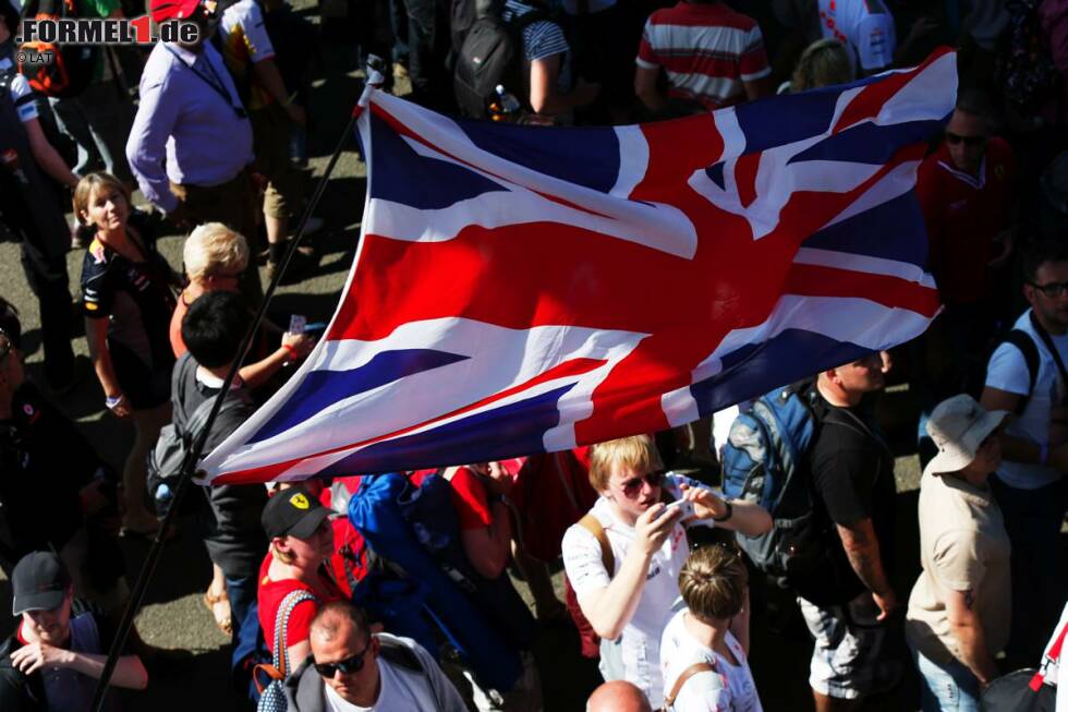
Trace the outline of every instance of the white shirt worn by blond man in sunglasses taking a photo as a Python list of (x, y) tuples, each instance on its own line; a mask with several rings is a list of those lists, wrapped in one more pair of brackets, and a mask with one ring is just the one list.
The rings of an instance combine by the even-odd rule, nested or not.
[[(668, 492), (680, 496), (679, 485), (699, 487), (700, 482), (669, 472), (664, 485)], [(608, 543), (616, 559), (616, 571), (627, 558), (627, 552), (634, 541), (634, 528), (619, 521), (612, 514), (611, 504), (600, 497), (590, 510), (605, 528)], [(705, 522), (702, 522), (705, 523)], [(707, 522), (711, 524), (712, 522)], [(581, 524), (572, 524), (563, 534), (563, 567), (568, 580), (574, 589), (579, 603), (590, 591), (603, 589), (611, 582), (616, 571), (606, 571), (600, 558), (600, 544)], [(623, 627), (621, 650), (626, 679), (636, 685), (648, 698), (653, 709), (664, 703), (663, 680), (660, 677), (660, 633), (671, 616), (671, 605), (679, 598), (679, 571), (687, 560), (689, 542), (685, 529), (676, 523), (663, 546), (650, 562), (648, 575), (642, 598), (638, 602), (634, 616)], [(602, 669), (605, 673), (605, 669)]]

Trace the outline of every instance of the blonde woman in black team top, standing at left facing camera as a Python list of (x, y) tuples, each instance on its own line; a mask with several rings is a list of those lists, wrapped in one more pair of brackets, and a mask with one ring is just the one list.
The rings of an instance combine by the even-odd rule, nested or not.
[(123, 527), (155, 532), (159, 521), (145, 504), (145, 458), (171, 418), (174, 355), (167, 329), (174, 311), (174, 275), (156, 252), (155, 236), (141, 214), (131, 215), (130, 192), (113, 176), (83, 178), (74, 191), (74, 214), (96, 228), (82, 265), (93, 366), (107, 407), (119, 418), (133, 418), (136, 432), (122, 472)]

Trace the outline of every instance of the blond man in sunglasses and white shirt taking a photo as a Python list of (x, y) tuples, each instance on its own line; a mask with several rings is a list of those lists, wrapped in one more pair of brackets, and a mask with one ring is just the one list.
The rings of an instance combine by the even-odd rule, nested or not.
[[(563, 535), (563, 565), (579, 607), (603, 639), (605, 679), (630, 680), (656, 709), (664, 701), (660, 632), (679, 596), (689, 552), (683, 520), (713, 520), (757, 536), (772, 528), (772, 518), (757, 505), (720, 499), (665, 472), (648, 435), (594, 446), (590, 483), (600, 498)], [(669, 506), (665, 499), (684, 503)]]

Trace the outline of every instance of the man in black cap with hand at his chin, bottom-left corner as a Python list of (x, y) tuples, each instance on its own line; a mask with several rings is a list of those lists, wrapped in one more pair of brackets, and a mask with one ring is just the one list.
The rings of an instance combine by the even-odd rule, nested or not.
[[(114, 630), (106, 617), (74, 599), (71, 578), (56, 554), (24, 556), (11, 584), (12, 613), (22, 620), (0, 645), (0, 710), (88, 709)], [(141, 659), (120, 656), (111, 685), (145, 689), (148, 673)]]

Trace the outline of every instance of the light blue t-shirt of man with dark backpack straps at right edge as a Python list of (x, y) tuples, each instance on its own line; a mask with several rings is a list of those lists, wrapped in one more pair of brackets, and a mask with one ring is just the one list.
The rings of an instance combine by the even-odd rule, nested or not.
[[(1005, 429), (1006, 435), (1030, 441), (1041, 445), (1049, 445), (1049, 409), (1054, 403), (1064, 402), (1066, 386), (1061, 383), (1060, 373), (1053, 355), (1046, 350), (1045, 343), (1034, 333), (1031, 326), (1031, 310), (1016, 321), (1012, 328), (1025, 331), (1039, 350), (1039, 375), (1034, 379), (1034, 389), (1028, 407), (1019, 418), (1011, 419)], [(1061, 360), (1068, 364), (1068, 334), (1053, 336), (1053, 343), (1060, 353)], [(991, 357), (986, 367), (986, 385), (1011, 394), (1025, 396), (1030, 378), (1028, 363), (1020, 350), (1010, 343), (1003, 343)], [(1060, 474), (1051, 467), (1035, 462), (1002, 461), (997, 476), (1010, 487), (1020, 490), (1036, 490), (1055, 482)]]

